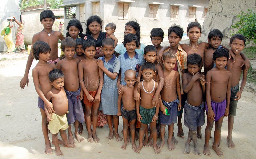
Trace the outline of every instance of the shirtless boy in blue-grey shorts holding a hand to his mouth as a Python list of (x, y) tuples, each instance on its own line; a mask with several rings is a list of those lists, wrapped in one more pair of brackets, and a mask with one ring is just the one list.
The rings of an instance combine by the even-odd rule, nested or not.
[(198, 126), (204, 125), (204, 94), (205, 79), (199, 73), (202, 58), (198, 54), (190, 54), (187, 57), (188, 73), (183, 74), (183, 91), (187, 93), (184, 106), (184, 125), (188, 127), (188, 140), (185, 143), (184, 154), (191, 153), (190, 142), (194, 143), (194, 154), (201, 155), (196, 141)]

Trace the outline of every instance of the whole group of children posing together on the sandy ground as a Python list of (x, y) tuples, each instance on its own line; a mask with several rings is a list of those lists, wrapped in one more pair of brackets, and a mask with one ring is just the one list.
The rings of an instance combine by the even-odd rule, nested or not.
[[(148, 145), (159, 154), (165, 144), (166, 125), (167, 146), (169, 150), (173, 150), (178, 143), (173, 135), (177, 119), (177, 135), (184, 137), (181, 124), (183, 109), (184, 125), (189, 129), (184, 153), (191, 153), (189, 145), (193, 140), (194, 154), (201, 155), (196, 139), (202, 139), (204, 110), (207, 114), (204, 155), (211, 155), (209, 139), (214, 121), (212, 148), (218, 156), (223, 155), (219, 149), (223, 117), (228, 116), (228, 147), (235, 147), (232, 141), (234, 116), (237, 100), (240, 99), (246, 83), (248, 69), (244, 65), (248, 65), (248, 59), (241, 53), (246, 41), (243, 35), (235, 34), (231, 37), (231, 49), (220, 45), (223, 35), (217, 29), (210, 31), (209, 43), (198, 42), (201, 26), (198, 22), (191, 22), (187, 27), (190, 42), (179, 44), (183, 28), (174, 24), (168, 29), (169, 47), (161, 46), (163, 30), (154, 28), (150, 36), (153, 45), (143, 49), (143, 56), (135, 50), (142, 46), (137, 32), (125, 34), (122, 47), (126, 51), (116, 54), (117, 39), (113, 34), (115, 24), (108, 24), (104, 35), (100, 35), (102, 23), (97, 20), (87, 24), (86, 32), (90, 32), (90, 35), (83, 35), (82, 28), (71, 28), (69, 25), (72, 31), (68, 32), (69, 35), (64, 39), (58, 31), (53, 31), (49, 27), (54, 23), (52, 14), (46, 10), (40, 15), (40, 21), (44, 26), (43, 34), (40, 32), (33, 36), (33, 54), (29, 55), (25, 75), (20, 82), (21, 88), (28, 84), (26, 75), (33, 57), (39, 60), (32, 70), (32, 76), (39, 95), (38, 107), (41, 108), (45, 153), (52, 153), (47, 131), (48, 122), (56, 155), (63, 155), (59, 144), (75, 147), (71, 132), (72, 123), (75, 124), (74, 135), (78, 142), (84, 140), (78, 133), (79, 123), (84, 122), (88, 131), (87, 141), (100, 142), (96, 133), (100, 106), (109, 126), (107, 139), (113, 140), (115, 136), (117, 141), (121, 141), (124, 138), (124, 145), (121, 146), (124, 150), (131, 141), (136, 153), (140, 153), (142, 147)], [(78, 34), (83, 37), (79, 37)], [(91, 36), (94, 39), (91, 39)], [(95, 43), (95, 36), (105, 37), (99, 44), (97, 38)], [(57, 60), (55, 65), (50, 62), (56, 61), (56, 50), (52, 47), (55, 46), (53, 41), (58, 39), (62, 40), (61, 50), (65, 56), (62, 60)], [(203, 66), (204, 73), (201, 74)], [(239, 89), (242, 71), (243, 78)], [(85, 113), (81, 100), (85, 105)], [(119, 116), (123, 118), (123, 138), (118, 134)], [(136, 127), (140, 128), (138, 146), (135, 143)], [(157, 144), (158, 128), (161, 142)], [(59, 131), (63, 141), (57, 138)]]

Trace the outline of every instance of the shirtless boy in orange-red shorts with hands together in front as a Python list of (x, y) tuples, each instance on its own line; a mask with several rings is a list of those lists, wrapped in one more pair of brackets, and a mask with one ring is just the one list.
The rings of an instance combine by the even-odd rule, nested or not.
[[(97, 60), (94, 58), (96, 54), (96, 44), (92, 39), (87, 39), (83, 43), (83, 52), (86, 55), (84, 61), (78, 64), (78, 75), (81, 88), (84, 91), (84, 104), (86, 127), (88, 131), (88, 142), (100, 142), (96, 134), (98, 123), (98, 110), (100, 107), (100, 94), (103, 87), (103, 72), (98, 67)], [(92, 129), (91, 130), (91, 115)]]

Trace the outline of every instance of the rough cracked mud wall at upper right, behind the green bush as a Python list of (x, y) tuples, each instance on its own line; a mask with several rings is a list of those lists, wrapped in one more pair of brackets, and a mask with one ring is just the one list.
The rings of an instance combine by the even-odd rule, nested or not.
[(219, 29), (223, 33), (222, 44), (228, 46), (230, 34), (237, 31), (231, 28), (238, 20), (236, 14), (248, 9), (256, 9), (256, 0), (210, 0), (201, 40), (207, 41), (209, 31)]

